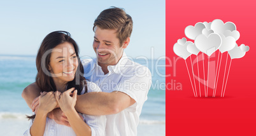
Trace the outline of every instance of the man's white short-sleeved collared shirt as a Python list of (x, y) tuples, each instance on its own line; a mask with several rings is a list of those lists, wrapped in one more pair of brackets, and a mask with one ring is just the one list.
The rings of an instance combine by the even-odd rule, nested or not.
[(152, 84), (150, 70), (129, 60), (125, 53), (117, 65), (108, 66), (108, 74), (104, 74), (96, 58), (83, 60), (82, 63), (85, 78), (96, 83), (102, 92), (123, 92), (136, 101), (135, 104), (117, 114), (106, 115), (105, 134), (107, 136), (137, 135), (139, 115)]

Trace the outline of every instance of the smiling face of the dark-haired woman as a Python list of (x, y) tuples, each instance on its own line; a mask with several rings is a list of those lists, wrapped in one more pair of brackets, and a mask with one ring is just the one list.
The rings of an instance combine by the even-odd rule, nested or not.
[(73, 44), (65, 42), (53, 48), (49, 63), (53, 79), (62, 82), (73, 81), (77, 67), (78, 59)]

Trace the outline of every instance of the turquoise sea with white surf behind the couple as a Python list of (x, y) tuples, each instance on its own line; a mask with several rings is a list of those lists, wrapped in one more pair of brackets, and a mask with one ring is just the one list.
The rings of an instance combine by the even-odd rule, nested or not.
[[(0, 132), (22, 135), (29, 127), (25, 114), (32, 114), (21, 97), (22, 90), (36, 77), (36, 57), (0, 55)], [(152, 72), (152, 87), (143, 105), (138, 135), (165, 135), (165, 60), (133, 59)], [(157, 65), (160, 65), (157, 67)]]

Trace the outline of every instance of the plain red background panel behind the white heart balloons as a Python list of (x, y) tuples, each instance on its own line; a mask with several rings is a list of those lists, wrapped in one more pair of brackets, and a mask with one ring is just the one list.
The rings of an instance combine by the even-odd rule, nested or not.
[[(255, 6), (248, 0), (166, 1), (166, 135), (256, 135)], [(232, 60), (224, 98), (195, 98), (184, 60), (173, 60), (173, 45), (188, 25), (217, 18), (236, 24), (236, 43), (250, 51)]]

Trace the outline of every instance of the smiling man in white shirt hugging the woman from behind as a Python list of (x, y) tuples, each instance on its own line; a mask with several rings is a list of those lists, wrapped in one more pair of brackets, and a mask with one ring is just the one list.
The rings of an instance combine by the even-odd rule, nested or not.
[[(93, 30), (97, 59), (85, 61), (83, 67), (85, 78), (96, 83), (103, 92), (79, 95), (76, 111), (106, 115), (106, 135), (137, 135), (139, 115), (151, 86), (151, 73), (147, 67), (129, 60), (124, 53), (130, 42), (132, 18), (120, 8), (109, 8), (96, 18)], [(39, 92), (41, 90), (35, 83), (22, 92), (33, 111), (38, 105), (35, 98)], [(49, 117), (69, 125), (60, 109), (50, 112)]]

